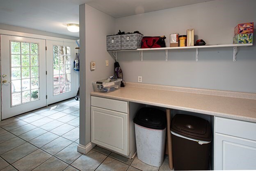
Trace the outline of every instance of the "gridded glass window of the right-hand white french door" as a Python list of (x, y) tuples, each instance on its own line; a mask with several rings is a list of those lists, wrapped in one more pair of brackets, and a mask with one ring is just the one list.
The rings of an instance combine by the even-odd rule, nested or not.
[(71, 91), (69, 46), (53, 46), (53, 95)]

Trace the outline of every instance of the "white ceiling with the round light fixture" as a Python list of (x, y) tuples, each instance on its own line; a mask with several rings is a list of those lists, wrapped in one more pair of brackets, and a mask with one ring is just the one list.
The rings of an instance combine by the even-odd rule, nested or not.
[(87, 3), (114, 18), (210, 0), (0, 0), (0, 23), (79, 36), (66, 29), (79, 24), (79, 5)]

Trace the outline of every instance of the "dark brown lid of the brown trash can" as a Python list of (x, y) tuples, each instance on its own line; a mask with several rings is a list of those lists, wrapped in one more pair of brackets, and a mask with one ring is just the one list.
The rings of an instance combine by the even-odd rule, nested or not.
[(212, 140), (210, 123), (197, 116), (176, 114), (171, 121), (171, 131), (200, 141)]

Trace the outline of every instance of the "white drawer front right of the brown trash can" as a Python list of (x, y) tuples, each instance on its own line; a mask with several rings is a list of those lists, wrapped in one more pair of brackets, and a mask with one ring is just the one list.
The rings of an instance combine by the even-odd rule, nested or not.
[(256, 123), (215, 117), (215, 132), (256, 141)]

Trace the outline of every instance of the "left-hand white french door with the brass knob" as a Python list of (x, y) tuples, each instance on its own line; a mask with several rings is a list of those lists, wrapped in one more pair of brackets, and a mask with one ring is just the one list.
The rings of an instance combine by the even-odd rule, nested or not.
[(46, 106), (46, 41), (0, 35), (2, 119)]

